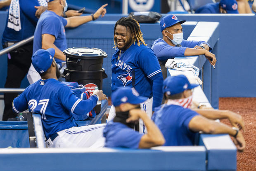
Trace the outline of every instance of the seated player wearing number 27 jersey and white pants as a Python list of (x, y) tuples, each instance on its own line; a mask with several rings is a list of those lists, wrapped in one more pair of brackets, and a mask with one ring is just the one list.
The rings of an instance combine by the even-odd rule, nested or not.
[(107, 99), (106, 95), (100, 90), (87, 100), (78, 98), (68, 85), (57, 81), (59, 71), (53, 56), (53, 48), (39, 49), (33, 54), (32, 64), (41, 79), (14, 98), (13, 111), (20, 113), (29, 109), (41, 115), (48, 147), (102, 148), (106, 124), (78, 127), (72, 114), (86, 115), (98, 100)]

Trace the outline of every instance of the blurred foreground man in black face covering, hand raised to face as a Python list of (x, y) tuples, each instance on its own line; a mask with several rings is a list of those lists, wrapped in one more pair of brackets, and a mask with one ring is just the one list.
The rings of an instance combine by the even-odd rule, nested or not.
[[(146, 101), (147, 97), (139, 96), (134, 88), (123, 87), (114, 91), (111, 99), (116, 109), (116, 116), (103, 130), (103, 136), (106, 138), (105, 147), (137, 149), (164, 144), (161, 131), (147, 113), (140, 110), (140, 103)], [(147, 133), (144, 135), (133, 130), (140, 118), (147, 127)]]

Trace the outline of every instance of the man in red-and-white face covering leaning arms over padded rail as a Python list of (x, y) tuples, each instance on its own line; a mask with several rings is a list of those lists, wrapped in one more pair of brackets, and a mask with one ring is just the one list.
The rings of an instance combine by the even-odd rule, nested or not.
[[(164, 80), (165, 103), (156, 108), (152, 120), (159, 127), (166, 143), (164, 145), (195, 145), (196, 133), (229, 134), (239, 151), (245, 148), (244, 137), (239, 129), (244, 129), (242, 117), (226, 110), (190, 110), (192, 89), (198, 84), (190, 84), (185, 75), (169, 76)], [(229, 119), (234, 127), (215, 122), (215, 119)]]

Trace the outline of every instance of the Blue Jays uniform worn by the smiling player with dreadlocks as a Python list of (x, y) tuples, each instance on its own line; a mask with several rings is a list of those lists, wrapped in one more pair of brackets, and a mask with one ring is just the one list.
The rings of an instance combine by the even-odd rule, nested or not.
[[(120, 58), (119, 58), (120, 57)], [(141, 109), (151, 118), (154, 108), (161, 105), (163, 75), (156, 55), (145, 45), (132, 44), (126, 50), (117, 49), (111, 60), (112, 93), (118, 87), (134, 87), (140, 96), (148, 97), (148, 101), (141, 103)], [(153, 97), (153, 98), (152, 98)], [(152, 102), (153, 100), (153, 102)], [(114, 107), (109, 112), (109, 120), (115, 116)], [(146, 129), (140, 121), (140, 133)]]

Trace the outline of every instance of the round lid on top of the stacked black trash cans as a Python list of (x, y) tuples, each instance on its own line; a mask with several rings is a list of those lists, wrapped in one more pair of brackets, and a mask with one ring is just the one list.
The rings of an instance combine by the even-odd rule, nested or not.
[(69, 49), (64, 50), (64, 54), (66, 56), (72, 56), (72, 57), (107, 57), (106, 52), (104, 52), (102, 49), (97, 48), (89, 48), (89, 47), (72, 47)]

